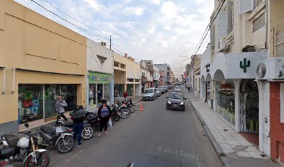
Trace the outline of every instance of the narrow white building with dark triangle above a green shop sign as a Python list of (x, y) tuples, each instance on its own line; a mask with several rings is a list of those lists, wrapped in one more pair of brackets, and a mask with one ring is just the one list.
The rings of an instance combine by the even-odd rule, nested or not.
[(114, 52), (100, 43), (87, 41), (87, 109), (96, 110), (106, 99), (110, 104), (114, 100), (113, 54)]

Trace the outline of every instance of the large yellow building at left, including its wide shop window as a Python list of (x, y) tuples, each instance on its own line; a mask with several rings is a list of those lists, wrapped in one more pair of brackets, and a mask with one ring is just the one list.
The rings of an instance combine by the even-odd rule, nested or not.
[(86, 103), (86, 38), (10, 0), (0, 1), (0, 132), (41, 124)]

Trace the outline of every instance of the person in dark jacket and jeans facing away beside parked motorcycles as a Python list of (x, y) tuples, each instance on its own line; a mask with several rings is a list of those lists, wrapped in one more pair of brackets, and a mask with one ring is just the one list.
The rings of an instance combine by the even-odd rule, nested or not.
[(73, 138), (74, 141), (76, 141), (76, 138), (78, 136), (78, 145), (77, 147), (80, 147), (82, 145), (81, 143), (81, 134), (84, 129), (84, 120), (85, 120), (85, 115), (88, 113), (86, 109), (83, 109), (83, 106), (79, 106), (78, 109), (75, 109), (70, 113), (70, 116), (72, 116), (72, 120), (74, 122), (73, 129), (74, 129), (74, 134)]

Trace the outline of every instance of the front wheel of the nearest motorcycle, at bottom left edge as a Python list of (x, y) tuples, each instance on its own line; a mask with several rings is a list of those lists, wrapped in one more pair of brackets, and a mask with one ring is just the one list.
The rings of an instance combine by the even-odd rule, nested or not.
[(47, 167), (49, 165), (50, 155), (48, 152), (36, 152), (36, 157), (38, 163), (35, 163), (35, 159), (33, 159), (33, 156), (30, 155), (24, 161), (24, 167), (31, 167), (31, 166)]

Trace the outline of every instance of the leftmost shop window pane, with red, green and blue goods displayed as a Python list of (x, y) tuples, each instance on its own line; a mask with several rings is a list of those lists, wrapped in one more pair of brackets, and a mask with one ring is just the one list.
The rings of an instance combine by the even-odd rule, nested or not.
[(42, 85), (19, 84), (18, 112), (19, 123), (43, 118)]

